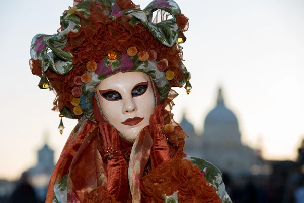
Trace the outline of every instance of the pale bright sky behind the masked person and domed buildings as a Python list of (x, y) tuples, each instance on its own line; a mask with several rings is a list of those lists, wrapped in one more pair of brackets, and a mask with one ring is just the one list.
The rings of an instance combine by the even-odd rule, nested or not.
[[(59, 17), (72, 0), (3, 1), (0, 14), (2, 117), (0, 178), (17, 179), (37, 161), (36, 151), (48, 132), (57, 160), (76, 120), (52, 112), (53, 92), (37, 87), (29, 47), (36, 33), (56, 33)], [(143, 9), (149, 1), (138, 0)], [(236, 114), (242, 142), (263, 140), (265, 159), (295, 160), (304, 135), (304, 2), (301, 0), (177, 0), (190, 28), (184, 64), (193, 89), (174, 100), (198, 134), (214, 107), (217, 87)]]

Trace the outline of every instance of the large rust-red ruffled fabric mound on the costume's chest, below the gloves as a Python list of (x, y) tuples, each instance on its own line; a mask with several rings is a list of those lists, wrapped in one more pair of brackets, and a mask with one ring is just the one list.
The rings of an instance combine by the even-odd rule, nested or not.
[(170, 196), (175, 191), (179, 202), (221, 202), (199, 168), (183, 158), (165, 161), (143, 177), (141, 190), (147, 202), (164, 202), (163, 194)]

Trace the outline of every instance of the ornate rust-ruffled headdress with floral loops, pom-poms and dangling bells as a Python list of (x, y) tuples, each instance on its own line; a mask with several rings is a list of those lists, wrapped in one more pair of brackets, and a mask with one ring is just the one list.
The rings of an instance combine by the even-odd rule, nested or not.
[[(29, 61), (41, 77), (39, 87), (55, 92), (53, 110), (60, 117), (94, 121), (95, 88), (119, 72), (148, 74), (161, 101), (171, 87), (185, 83), (189, 94), (190, 75), (179, 46), (186, 40), (188, 18), (173, 0), (154, 0), (143, 10), (128, 0), (85, 0), (65, 11), (60, 24), (56, 35), (33, 38)], [(61, 133), (63, 128), (61, 119)]]

